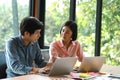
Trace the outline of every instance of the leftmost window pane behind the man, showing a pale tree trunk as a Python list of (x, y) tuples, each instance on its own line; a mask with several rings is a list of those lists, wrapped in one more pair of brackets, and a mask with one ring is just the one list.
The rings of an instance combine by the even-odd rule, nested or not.
[(29, 15), (29, 0), (0, 0), (0, 51), (5, 41), (19, 34), (19, 22)]

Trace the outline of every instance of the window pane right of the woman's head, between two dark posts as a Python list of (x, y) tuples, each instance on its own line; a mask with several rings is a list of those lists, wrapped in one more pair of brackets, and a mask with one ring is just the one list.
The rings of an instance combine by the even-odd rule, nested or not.
[(76, 22), (78, 40), (82, 44), (84, 54), (94, 56), (96, 0), (76, 0)]

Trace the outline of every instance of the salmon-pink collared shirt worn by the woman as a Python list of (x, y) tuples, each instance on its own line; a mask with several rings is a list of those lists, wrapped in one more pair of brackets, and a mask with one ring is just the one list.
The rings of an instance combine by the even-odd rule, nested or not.
[(77, 56), (79, 61), (83, 59), (83, 50), (80, 43), (72, 41), (68, 49), (63, 45), (62, 40), (54, 41), (49, 48), (50, 62), (53, 62), (58, 57), (74, 57)]

